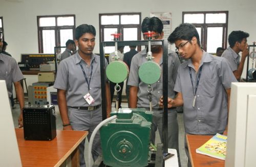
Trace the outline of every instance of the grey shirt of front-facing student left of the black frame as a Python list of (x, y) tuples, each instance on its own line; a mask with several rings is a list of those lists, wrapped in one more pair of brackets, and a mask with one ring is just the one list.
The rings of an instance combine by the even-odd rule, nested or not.
[[(90, 82), (91, 70), (92, 77), (90, 82), (90, 89), (88, 83), (84, 78), (81, 66), (86, 73), (87, 80)], [(108, 62), (105, 59), (105, 66)], [(89, 104), (84, 100), (83, 96), (89, 90), (92, 98), (95, 100), (91, 106), (101, 104), (101, 79), (100, 79), (100, 56), (92, 54), (91, 65), (88, 66), (79, 56), (78, 52), (59, 63), (57, 77), (54, 83), (54, 88), (66, 90), (67, 105), (71, 107), (86, 107)]]

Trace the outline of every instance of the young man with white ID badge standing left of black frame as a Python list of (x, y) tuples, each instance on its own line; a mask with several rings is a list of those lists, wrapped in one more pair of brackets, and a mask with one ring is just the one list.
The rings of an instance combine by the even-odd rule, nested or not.
[[(63, 130), (88, 131), (88, 140), (95, 127), (102, 121), (100, 57), (93, 54), (96, 31), (92, 25), (80, 25), (76, 28), (78, 52), (59, 64), (54, 88), (57, 90), (58, 106)], [(105, 59), (105, 65), (108, 62)], [(110, 116), (110, 89), (106, 81), (106, 111)], [(79, 145), (80, 166), (84, 161), (84, 141)], [(92, 155), (96, 160), (101, 154), (100, 136), (97, 132)]]

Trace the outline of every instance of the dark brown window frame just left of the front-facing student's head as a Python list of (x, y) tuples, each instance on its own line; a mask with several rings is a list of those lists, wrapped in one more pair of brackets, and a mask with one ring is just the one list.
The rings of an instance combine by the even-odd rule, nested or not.
[[(55, 17), (55, 26), (39, 27), (39, 19), (42, 17)], [(58, 17), (74, 17), (74, 26), (57, 26), (57, 18)], [(60, 30), (72, 29), (73, 37), (75, 37), (75, 28), (76, 28), (76, 17), (74, 14), (37, 16), (38, 52), (44, 53), (44, 46), (43, 46), (43, 41), (42, 41), (42, 31), (43, 30), (54, 30), (55, 46), (60, 46)]]

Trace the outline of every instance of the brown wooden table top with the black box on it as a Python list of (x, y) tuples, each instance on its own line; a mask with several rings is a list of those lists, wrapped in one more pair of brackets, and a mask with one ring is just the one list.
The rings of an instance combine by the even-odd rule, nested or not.
[(23, 166), (59, 166), (86, 138), (88, 131), (59, 131), (51, 141), (25, 140), (23, 129), (15, 129)]

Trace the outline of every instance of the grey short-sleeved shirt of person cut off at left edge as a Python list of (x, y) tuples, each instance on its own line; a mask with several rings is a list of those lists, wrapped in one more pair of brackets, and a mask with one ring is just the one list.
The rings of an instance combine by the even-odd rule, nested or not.
[(0, 80), (5, 80), (9, 98), (12, 96), (12, 83), (24, 79), (16, 60), (0, 53)]

